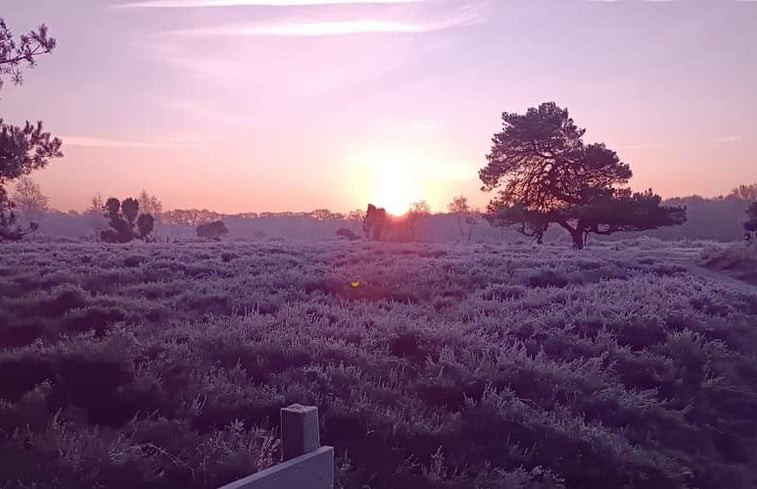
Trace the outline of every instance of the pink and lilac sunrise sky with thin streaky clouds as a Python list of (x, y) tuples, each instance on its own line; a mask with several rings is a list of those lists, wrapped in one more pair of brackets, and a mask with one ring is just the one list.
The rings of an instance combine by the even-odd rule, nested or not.
[(0, 0), (58, 40), (0, 93), (53, 207), (477, 205), (502, 112), (554, 101), (663, 197), (757, 182), (757, 0)]

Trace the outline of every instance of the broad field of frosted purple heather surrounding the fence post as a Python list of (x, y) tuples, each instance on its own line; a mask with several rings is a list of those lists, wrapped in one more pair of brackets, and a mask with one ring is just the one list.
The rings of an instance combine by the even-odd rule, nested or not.
[(4, 246), (0, 487), (217, 487), (293, 402), (346, 488), (755, 487), (757, 294), (652, 241)]

